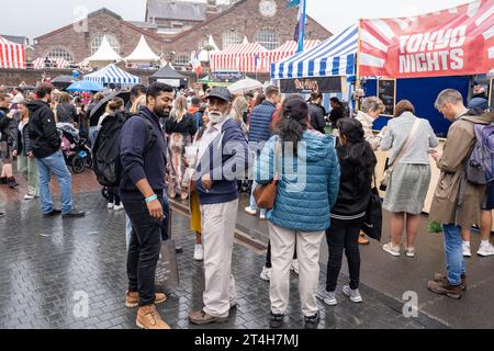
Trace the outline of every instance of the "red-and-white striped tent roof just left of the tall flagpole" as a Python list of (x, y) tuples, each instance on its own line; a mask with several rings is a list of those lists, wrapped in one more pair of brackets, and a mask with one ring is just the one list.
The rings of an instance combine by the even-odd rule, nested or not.
[(259, 43), (234, 44), (228, 46), (225, 50), (212, 55), (211, 68), (213, 71), (269, 71), (269, 66), (263, 67), (266, 53), (268, 53), (268, 50)]

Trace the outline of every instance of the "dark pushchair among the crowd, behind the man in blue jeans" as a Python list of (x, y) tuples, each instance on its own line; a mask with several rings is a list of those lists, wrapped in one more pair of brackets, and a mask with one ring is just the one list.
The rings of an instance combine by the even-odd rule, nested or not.
[(58, 123), (57, 129), (60, 132), (61, 154), (72, 172), (78, 174), (86, 168), (92, 168), (91, 150), (86, 145), (86, 139), (79, 136), (79, 131), (70, 123)]

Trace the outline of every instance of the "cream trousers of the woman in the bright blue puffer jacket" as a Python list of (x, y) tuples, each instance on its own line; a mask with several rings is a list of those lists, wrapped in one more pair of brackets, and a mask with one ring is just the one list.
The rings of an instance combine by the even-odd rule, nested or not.
[(290, 298), (290, 265), (296, 242), (299, 259), (299, 291), (302, 313), (305, 317), (315, 316), (317, 308), (317, 286), (319, 281), (321, 242), (325, 231), (300, 231), (281, 228), (269, 223), (271, 239), (271, 285), (269, 296), (271, 312), (284, 315)]

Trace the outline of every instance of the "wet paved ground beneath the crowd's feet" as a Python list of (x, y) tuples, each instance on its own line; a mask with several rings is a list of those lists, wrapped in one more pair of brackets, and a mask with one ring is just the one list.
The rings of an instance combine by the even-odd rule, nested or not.
[[(0, 189), (7, 200), (7, 217), (0, 219), (0, 328), (135, 328), (135, 310), (124, 306), (124, 214), (105, 208), (91, 173), (75, 176), (72, 183), (77, 206), (88, 211), (81, 219), (42, 218), (37, 201), (21, 200), (24, 182), (15, 191)], [(56, 186), (54, 192), (58, 193)], [(268, 328), (269, 283), (259, 279), (269, 237), (267, 222), (247, 215), (243, 211), (247, 202), (248, 196), (243, 194), (233, 259), (238, 309), (227, 324), (211, 329)], [(203, 263), (192, 259), (194, 235), (189, 229), (187, 202), (173, 201), (172, 205), (173, 239), (184, 249), (178, 256), (180, 287), (168, 292), (169, 301), (158, 309), (173, 328), (193, 329), (188, 314), (202, 307)], [(378, 242), (361, 247), (364, 303), (352, 304), (340, 292), (336, 307), (319, 301), (319, 328), (494, 327), (494, 258), (468, 260), (469, 291), (461, 301), (431, 294), (425, 286), (431, 274), (444, 271), (442, 238), (440, 234), (425, 234), (426, 224), (424, 217), (415, 259), (392, 258)], [(388, 227), (385, 219), (384, 230)], [(479, 240), (478, 235), (472, 236), (472, 250)], [(319, 293), (326, 262), (323, 242)], [(347, 282), (347, 272), (344, 260), (339, 288)], [(403, 299), (409, 294), (417, 298), (418, 315), (405, 318)], [(80, 309), (86, 298), (87, 314)], [(285, 328), (302, 327), (297, 276), (292, 273)]]

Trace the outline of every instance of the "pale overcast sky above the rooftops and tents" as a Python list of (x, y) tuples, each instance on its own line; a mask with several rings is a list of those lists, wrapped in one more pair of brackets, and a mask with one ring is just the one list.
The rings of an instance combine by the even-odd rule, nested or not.
[[(205, 2), (205, 0), (199, 0)], [(218, 1), (221, 2), (221, 1)], [(308, 14), (336, 33), (359, 18), (412, 16), (459, 5), (469, 0), (307, 0)], [(125, 20), (144, 21), (146, 0), (2, 1), (0, 34), (36, 37), (78, 20), (81, 9), (103, 7)], [(4, 15), (8, 13), (9, 15)]]

